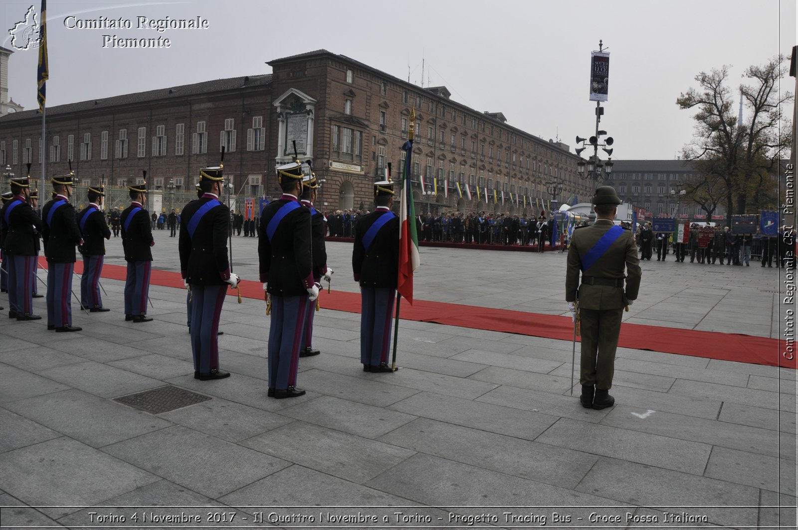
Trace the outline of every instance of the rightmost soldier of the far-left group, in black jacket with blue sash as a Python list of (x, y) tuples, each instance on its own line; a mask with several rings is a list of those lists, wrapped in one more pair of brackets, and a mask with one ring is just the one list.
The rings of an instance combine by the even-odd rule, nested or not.
[[(144, 172), (147, 178), (147, 172)], [(130, 206), (120, 216), (122, 248), (128, 262), (128, 275), (124, 282), (124, 319), (133, 322), (152, 322), (147, 316), (149, 278), (152, 269), (152, 239), (149, 214), (144, 209), (147, 200), (147, 182), (128, 186)]]

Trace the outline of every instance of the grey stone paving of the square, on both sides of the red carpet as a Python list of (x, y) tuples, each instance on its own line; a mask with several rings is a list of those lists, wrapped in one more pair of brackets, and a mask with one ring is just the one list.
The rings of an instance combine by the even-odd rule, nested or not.
[[(107, 247), (105, 263), (124, 264), (120, 239)], [(176, 247), (156, 231), (154, 267), (177, 271)], [(257, 280), (256, 250), (234, 238), (243, 279)], [(328, 255), (334, 291), (357, 291), (351, 243)], [(626, 322), (780, 335), (784, 269), (673, 259), (642, 263)], [(564, 254), (422, 247), (421, 260), (417, 299), (567, 313)], [(185, 291), (152, 286), (155, 320), (135, 324), (123, 283), (102, 284), (112, 311), (73, 301), (80, 333), (0, 314), (2, 528), (269, 526), (271, 512), (284, 528), (796, 526), (795, 370), (620, 348), (617, 405), (587, 410), (578, 366), (571, 395), (570, 342), (401, 320), (401, 370), (364, 374), (359, 314), (322, 310), (322, 354), (300, 361), (307, 394), (277, 401), (263, 300), (228, 297), (219, 345), (232, 377), (200, 382)], [(113, 401), (164, 386), (211, 399), (159, 414)], [(287, 508), (302, 506), (330, 508)], [(181, 512), (203, 520), (157, 519)]]

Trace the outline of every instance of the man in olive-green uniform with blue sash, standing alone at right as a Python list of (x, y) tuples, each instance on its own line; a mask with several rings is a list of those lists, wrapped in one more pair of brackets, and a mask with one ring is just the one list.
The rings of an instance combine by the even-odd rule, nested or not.
[(597, 219), (592, 226), (574, 231), (568, 251), (565, 300), (571, 312), (579, 310), (581, 319), (580, 401), (587, 409), (605, 409), (615, 402), (609, 390), (623, 308), (637, 299), (642, 273), (632, 232), (613, 223), (621, 204), (615, 190), (610, 186), (596, 188), (591, 202)]

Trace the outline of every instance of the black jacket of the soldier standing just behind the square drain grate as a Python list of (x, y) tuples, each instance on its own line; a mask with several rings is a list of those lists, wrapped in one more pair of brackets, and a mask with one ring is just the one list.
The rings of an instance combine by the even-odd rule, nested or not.
[(194, 237), (188, 228), (194, 227), (192, 219), (200, 215), (199, 208), (211, 200), (218, 200), (205, 194), (199, 200), (186, 204), (181, 212), (180, 223), (180, 273), (188, 283), (201, 285), (221, 285), (230, 278), (230, 263), (227, 261), (227, 219), (230, 210), (218, 204), (207, 210), (196, 223)]

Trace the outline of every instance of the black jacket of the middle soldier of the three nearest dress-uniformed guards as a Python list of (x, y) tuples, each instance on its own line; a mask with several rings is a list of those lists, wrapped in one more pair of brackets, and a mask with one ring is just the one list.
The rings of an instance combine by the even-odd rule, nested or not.
[(310, 257), (310, 210), (299, 206), (280, 220), (271, 241), (267, 231), (271, 219), (284, 204), (296, 201), (283, 195), (263, 208), (258, 239), (260, 281), (268, 282), (268, 292), (275, 296), (306, 295), (313, 287), (313, 263)]

